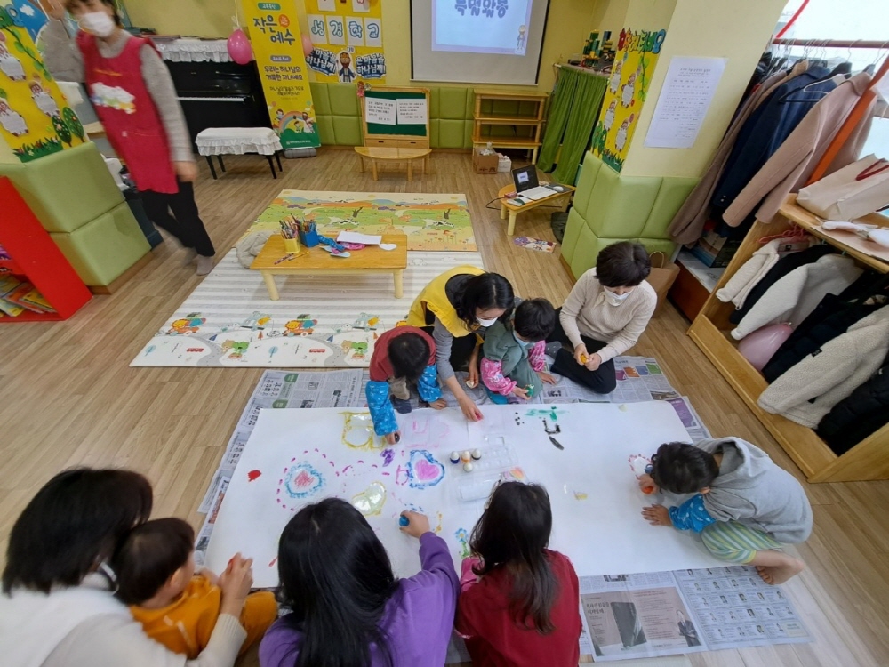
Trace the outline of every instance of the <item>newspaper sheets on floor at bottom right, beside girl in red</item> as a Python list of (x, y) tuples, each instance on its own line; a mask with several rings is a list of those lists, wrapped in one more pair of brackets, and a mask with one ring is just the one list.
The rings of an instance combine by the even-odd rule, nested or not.
[(749, 566), (581, 577), (581, 654), (626, 660), (812, 641)]

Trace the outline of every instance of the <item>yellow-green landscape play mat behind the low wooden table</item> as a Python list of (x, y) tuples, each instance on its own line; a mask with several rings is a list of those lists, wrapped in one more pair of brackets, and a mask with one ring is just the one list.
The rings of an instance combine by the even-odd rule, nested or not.
[(477, 250), (466, 195), (282, 190), (247, 233), (278, 230), (290, 215), (315, 221), (332, 236), (343, 229), (380, 234), (396, 227), (407, 235), (408, 250)]

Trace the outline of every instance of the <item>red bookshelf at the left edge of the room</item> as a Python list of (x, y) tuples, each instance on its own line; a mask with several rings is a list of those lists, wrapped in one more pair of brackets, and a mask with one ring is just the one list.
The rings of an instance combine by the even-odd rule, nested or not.
[(0, 202), (0, 245), (12, 257), (0, 260), (0, 277), (27, 279), (55, 309), (54, 313), (26, 310), (17, 317), (0, 317), (0, 324), (68, 319), (92, 299), (92, 293), (5, 176), (0, 177)]

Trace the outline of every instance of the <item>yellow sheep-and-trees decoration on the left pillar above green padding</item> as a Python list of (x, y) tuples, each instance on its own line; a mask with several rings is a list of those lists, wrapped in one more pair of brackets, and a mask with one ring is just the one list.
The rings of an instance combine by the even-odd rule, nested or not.
[(86, 139), (28, 30), (0, 6), (0, 139), (30, 162)]

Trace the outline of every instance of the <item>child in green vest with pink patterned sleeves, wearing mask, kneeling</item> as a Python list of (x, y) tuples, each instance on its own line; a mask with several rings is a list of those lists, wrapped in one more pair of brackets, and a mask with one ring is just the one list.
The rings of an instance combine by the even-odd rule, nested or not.
[(482, 382), (494, 403), (518, 403), (536, 396), (543, 382), (556, 379), (546, 372), (544, 342), (556, 328), (556, 310), (546, 299), (522, 301), (512, 322), (488, 328), (482, 346)]

